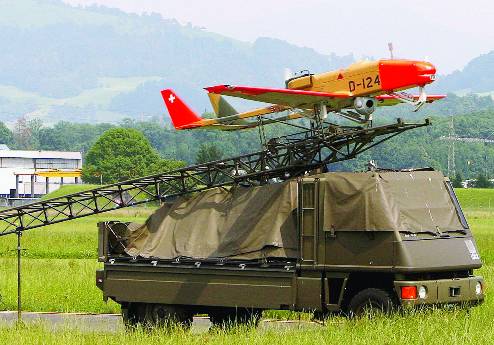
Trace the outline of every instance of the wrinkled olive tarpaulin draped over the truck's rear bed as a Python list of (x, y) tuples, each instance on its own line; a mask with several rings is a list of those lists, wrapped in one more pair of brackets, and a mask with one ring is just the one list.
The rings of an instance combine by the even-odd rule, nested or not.
[(215, 188), (179, 197), (136, 228), (131, 256), (172, 259), (296, 257), (296, 181), (263, 187)]

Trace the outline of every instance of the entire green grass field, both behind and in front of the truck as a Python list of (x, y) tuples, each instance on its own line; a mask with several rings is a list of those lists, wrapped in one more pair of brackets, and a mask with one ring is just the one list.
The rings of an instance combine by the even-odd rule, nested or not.
[[(461, 200), (486, 200), (492, 191), (464, 190)], [(460, 193), (462, 193), (460, 195)], [(480, 202), (479, 201), (479, 202)], [(463, 204), (463, 201), (461, 201)], [(102, 294), (94, 284), (94, 271), (101, 264), (96, 261), (97, 229), (99, 220), (143, 222), (152, 209), (128, 208), (80, 220), (52, 225), (46, 229), (24, 233), (22, 244), (28, 248), (22, 261), (23, 309), (37, 311), (119, 312), (119, 306), (109, 301), (105, 305)], [(130, 334), (88, 333), (74, 330), (53, 332), (48, 325), (28, 328), (0, 328), (0, 344), (18, 339), (19, 344), (494, 344), (491, 326), (494, 303), (490, 286), (494, 281), (494, 212), (487, 209), (465, 208), (465, 215), (475, 235), (483, 267), (475, 273), (486, 279), (486, 301), (465, 311), (414, 312), (360, 320), (341, 324), (327, 324), (319, 330), (296, 329), (283, 333), (271, 331), (209, 332), (202, 335), (182, 331), (163, 331)], [(0, 239), (0, 309), (16, 309), (15, 236)], [(287, 317), (286, 312), (267, 311), (264, 317)], [(310, 315), (303, 315), (307, 319)], [(296, 314), (292, 315), (296, 318)]]

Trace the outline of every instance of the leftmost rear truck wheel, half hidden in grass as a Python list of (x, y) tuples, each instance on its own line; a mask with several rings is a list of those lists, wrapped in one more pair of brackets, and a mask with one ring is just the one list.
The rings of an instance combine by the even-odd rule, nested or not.
[(146, 307), (145, 323), (151, 327), (179, 325), (189, 328), (193, 313), (181, 306), (149, 303)]

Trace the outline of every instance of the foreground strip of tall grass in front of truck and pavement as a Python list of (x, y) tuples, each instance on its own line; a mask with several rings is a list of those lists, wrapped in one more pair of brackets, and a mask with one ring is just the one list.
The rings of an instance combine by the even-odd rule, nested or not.
[(70, 329), (53, 332), (46, 325), (7, 327), (0, 329), (0, 343), (32, 345), (279, 345), (279, 344), (341, 344), (341, 345), (458, 345), (494, 344), (492, 314), (480, 308), (470, 314), (464, 311), (430, 313), (411, 312), (392, 317), (377, 317), (349, 321), (345, 325), (326, 323), (325, 326), (298, 329), (296, 326), (280, 332), (277, 329), (239, 327), (233, 331), (212, 330), (197, 334), (174, 329), (117, 333), (82, 332)]

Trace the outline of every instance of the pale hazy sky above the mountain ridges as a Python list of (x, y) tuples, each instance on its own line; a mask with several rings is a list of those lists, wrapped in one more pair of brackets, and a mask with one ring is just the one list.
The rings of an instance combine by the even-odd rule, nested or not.
[(320, 53), (430, 57), (439, 74), (494, 50), (492, 0), (64, 0), (126, 12), (158, 12), (243, 41), (287, 40)]

